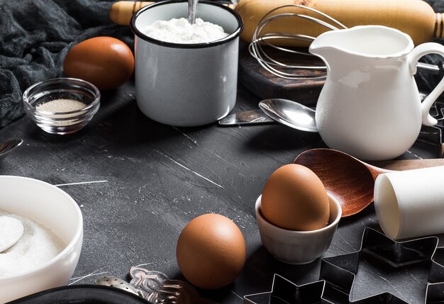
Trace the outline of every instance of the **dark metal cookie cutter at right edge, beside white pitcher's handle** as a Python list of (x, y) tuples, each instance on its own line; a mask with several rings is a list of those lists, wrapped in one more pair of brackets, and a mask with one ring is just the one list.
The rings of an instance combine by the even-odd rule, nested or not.
[(431, 108), (431, 116), (438, 120), (436, 125), (428, 127), (423, 125), (418, 140), (439, 147), (439, 157), (444, 156), (444, 103), (435, 101)]

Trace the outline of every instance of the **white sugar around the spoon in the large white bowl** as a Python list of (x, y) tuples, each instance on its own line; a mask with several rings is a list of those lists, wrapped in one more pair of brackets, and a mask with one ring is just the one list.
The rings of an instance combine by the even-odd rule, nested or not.
[(0, 278), (38, 269), (65, 248), (65, 244), (43, 225), (24, 216), (0, 210), (1, 215), (21, 220), (24, 230), (16, 244), (0, 252)]

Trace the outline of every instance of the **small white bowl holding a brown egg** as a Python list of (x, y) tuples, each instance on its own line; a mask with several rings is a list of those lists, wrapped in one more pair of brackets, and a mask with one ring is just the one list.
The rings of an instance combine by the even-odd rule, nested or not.
[(327, 251), (342, 215), (340, 204), (333, 196), (328, 193), (329, 224), (311, 231), (285, 230), (265, 220), (260, 213), (261, 197), (257, 198), (255, 206), (257, 227), (262, 244), (276, 259), (288, 264), (308, 264)]

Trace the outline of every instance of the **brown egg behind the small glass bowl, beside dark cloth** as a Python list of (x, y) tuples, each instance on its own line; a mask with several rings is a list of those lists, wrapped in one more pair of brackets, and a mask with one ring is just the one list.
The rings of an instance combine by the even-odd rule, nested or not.
[(99, 90), (116, 89), (133, 74), (134, 56), (121, 40), (95, 37), (74, 45), (63, 69), (67, 77), (89, 81)]

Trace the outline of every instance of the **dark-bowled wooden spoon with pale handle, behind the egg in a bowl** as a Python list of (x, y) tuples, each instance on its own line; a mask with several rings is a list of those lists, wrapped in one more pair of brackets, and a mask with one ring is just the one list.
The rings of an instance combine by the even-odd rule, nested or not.
[(340, 203), (345, 218), (373, 202), (374, 180), (379, 174), (443, 166), (444, 159), (403, 159), (367, 164), (338, 150), (311, 149), (299, 154), (294, 163), (309, 167), (319, 176), (326, 190)]

